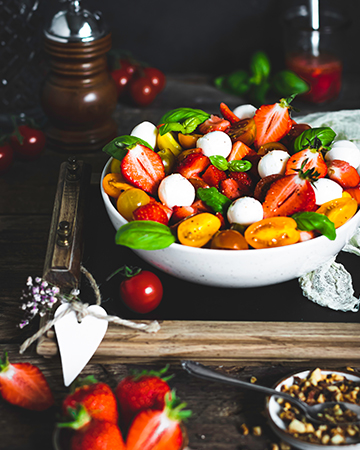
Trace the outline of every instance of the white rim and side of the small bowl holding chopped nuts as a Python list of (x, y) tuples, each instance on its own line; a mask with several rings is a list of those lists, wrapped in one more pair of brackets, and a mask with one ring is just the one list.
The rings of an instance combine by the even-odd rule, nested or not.
[[(306, 378), (310, 374), (310, 370), (305, 370), (303, 372), (298, 372), (290, 377), (287, 377), (281, 381), (279, 381), (274, 388), (277, 391), (281, 390), (283, 385), (292, 386), (294, 384), (294, 377)], [(348, 380), (355, 381), (360, 383), (360, 377), (356, 374), (352, 374), (351, 372), (339, 372), (338, 370), (321, 370), (323, 374), (338, 374), (346, 377)], [(299, 448), (302, 450), (334, 450), (334, 448), (341, 448), (343, 450), (359, 450), (360, 449), (360, 440), (358, 438), (347, 439), (346, 444), (342, 444), (340, 446), (336, 445), (325, 445), (325, 444), (313, 444), (310, 442), (303, 441), (301, 439), (297, 439), (292, 434), (286, 432), (286, 425), (280, 418), (281, 406), (277, 402), (275, 397), (269, 397), (266, 402), (266, 414), (268, 417), (268, 421), (270, 427), (274, 431), (275, 434), (279, 436), (284, 442), (287, 442), (292, 447)]]

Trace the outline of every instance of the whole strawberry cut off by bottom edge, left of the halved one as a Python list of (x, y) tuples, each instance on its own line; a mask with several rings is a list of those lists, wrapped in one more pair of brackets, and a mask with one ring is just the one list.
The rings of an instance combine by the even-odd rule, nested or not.
[(75, 430), (70, 439), (70, 450), (125, 450), (121, 431), (116, 423), (97, 420), (90, 416), (85, 406), (69, 408), (71, 421), (58, 423), (58, 428)]

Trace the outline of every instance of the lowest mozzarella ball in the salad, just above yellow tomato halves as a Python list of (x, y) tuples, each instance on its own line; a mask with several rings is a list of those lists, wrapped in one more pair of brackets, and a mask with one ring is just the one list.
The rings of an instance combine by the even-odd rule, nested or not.
[(262, 220), (264, 210), (259, 200), (253, 197), (240, 197), (229, 206), (227, 218), (230, 223), (251, 225)]

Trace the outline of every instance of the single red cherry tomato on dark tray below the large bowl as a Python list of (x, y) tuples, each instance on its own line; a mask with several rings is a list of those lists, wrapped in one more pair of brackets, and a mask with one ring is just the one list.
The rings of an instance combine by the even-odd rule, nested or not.
[(120, 295), (125, 305), (132, 311), (146, 314), (160, 304), (163, 286), (157, 275), (142, 270), (121, 282)]

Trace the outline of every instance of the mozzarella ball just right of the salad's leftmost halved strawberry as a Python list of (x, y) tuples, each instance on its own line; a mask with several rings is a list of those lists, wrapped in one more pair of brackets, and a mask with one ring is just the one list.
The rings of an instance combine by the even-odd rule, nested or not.
[(169, 208), (191, 206), (195, 200), (195, 188), (180, 173), (173, 173), (161, 180), (158, 195)]

